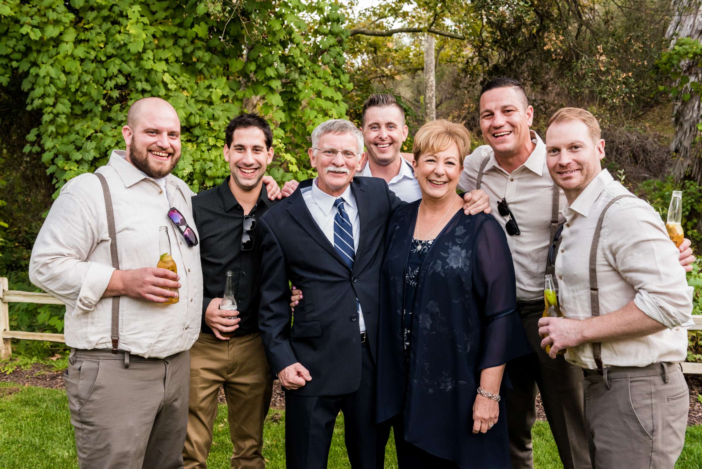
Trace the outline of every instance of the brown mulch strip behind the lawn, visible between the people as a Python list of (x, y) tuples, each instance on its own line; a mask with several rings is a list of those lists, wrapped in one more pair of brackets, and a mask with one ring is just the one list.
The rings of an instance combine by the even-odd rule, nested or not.
[[(0, 374), (0, 381), (6, 383), (16, 383), (23, 386), (39, 386), (41, 388), (65, 389), (63, 385), (62, 371), (53, 371), (49, 366), (33, 364), (27, 370), (15, 369), (11, 374)], [(687, 425), (702, 425), (702, 403), (697, 396), (702, 395), (702, 376), (685, 375), (687, 385), (690, 388), (690, 413), (687, 418)], [(17, 392), (20, 388), (0, 388), (0, 398)], [(224, 390), (219, 390), (219, 402), (225, 404)], [(273, 382), (273, 396), (270, 400), (272, 409), (285, 409), (285, 395), (276, 380)], [(545, 421), (546, 416), (541, 405), (541, 396), (536, 398), (536, 418)]]

